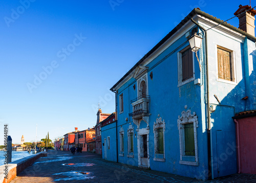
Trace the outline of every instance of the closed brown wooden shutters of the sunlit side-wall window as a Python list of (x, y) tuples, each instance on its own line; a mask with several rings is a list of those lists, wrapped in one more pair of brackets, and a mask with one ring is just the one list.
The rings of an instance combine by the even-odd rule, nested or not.
[(231, 67), (231, 54), (222, 49), (218, 51), (218, 77), (219, 79), (225, 79), (232, 81), (232, 67)]

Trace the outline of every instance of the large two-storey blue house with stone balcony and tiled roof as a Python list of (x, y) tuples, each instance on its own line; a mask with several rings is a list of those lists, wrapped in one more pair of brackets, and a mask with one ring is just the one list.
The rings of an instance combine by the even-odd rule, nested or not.
[[(117, 122), (102, 127), (102, 143), (108, 128), (117, 131), (110, 145), (117, 144), (108, 153), (119, 163), (198, 179), (237, 173), (232, 117), (256, 108), (250, 8), (236, 12), (240, 29), (194, 9), (111, 88)], [(202, 38), (197, 52), (188, 41), (194, 34)]]

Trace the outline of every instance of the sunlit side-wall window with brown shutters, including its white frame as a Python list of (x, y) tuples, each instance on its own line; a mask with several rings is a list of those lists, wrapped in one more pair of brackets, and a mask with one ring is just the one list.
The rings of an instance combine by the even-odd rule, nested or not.
[(236, 84), (235, 52), (216, 45), (217, 81)]

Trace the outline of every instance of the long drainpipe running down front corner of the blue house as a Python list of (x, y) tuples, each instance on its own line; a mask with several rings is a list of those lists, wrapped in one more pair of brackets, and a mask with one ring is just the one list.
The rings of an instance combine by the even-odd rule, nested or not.
[[(212, 166), (212, 145), (211, 145), (211, 124), (210, 124), (210, 101), (209, 101), (209, 72), (208, 72), (208, 48), (207, 48), (207, 32), (193, 18), (190, 20), (205, 32), (205, 57), (206, 57), (206, 98), (207, 98), (207, 144), (208, 144), (208, 169), (211, 179), (214, 179), (214, 169)], [(209, 178), (209, 176), (208, 176)]]

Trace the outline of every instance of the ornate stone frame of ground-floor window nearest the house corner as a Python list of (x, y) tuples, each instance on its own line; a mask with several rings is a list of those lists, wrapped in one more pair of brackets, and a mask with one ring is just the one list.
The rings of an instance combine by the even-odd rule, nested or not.
[[(185, 106), (185, 109), (187, 106)], [(180, 164), (198, 166), (198, 142), (197, 142), (197, 128), (198, 128), (198, 117), (196, 112), (191, 114), (191, 110), (183, 110), (181, 112), (181, 117), (178, 117), (178, 130), (179, 130), (179, 140), (180, 140)], [(194, 143), (195, 143), (195, 156), (185, 155), (185, 136), (184, 136), (184, 124), (193, 123), (194, 125)], [(192, 161), (193, 159), (194, 161)]]

